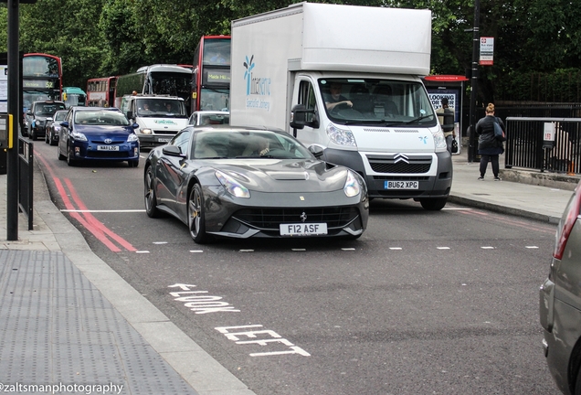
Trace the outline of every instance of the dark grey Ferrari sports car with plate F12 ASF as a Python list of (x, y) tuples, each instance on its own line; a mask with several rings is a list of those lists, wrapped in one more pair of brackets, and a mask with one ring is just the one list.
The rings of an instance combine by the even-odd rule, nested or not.
[(187, 127), (145, 161), (147, 214), (182, 220), (197, 243), (360, 237), (369, 215), (363, 178), (312, 151), (282, 131)]

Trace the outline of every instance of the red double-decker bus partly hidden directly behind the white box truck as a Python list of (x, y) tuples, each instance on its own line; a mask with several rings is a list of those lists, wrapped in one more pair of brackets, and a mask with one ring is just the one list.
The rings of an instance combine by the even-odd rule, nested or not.
[(190, 111), (228, 111), (230, 37), (203, 36), (195, 48)]

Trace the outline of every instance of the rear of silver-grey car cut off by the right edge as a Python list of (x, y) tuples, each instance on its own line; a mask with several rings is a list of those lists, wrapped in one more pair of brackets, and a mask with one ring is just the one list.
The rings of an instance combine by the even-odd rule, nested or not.
[(549, 276), (540, 290), (544, 356), (560, 390), (581, 394), (581, 182), (555, 235)]

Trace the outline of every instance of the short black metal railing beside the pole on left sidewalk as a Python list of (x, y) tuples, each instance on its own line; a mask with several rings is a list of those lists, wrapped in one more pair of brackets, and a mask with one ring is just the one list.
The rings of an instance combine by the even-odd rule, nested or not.
[(18, 207), (28, 219), (28, 230), (33, 230), (32, 201), (34, 176), (34, 144), (18, 137)]

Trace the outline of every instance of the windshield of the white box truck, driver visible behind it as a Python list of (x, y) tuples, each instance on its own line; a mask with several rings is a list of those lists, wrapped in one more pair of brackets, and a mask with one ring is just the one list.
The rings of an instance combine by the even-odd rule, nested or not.
[(438, 121), (420, 82), (321, 79), (319, 89), (335, 123), (435, 126)]

